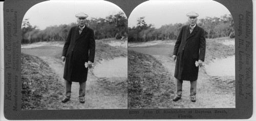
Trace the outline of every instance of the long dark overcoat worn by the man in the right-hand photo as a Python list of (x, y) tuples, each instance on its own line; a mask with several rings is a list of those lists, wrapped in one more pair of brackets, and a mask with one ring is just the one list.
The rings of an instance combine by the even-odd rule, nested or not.
[(198, 25), (190, 34), (189, 25), (183, 26), (176, 44), (173, 55), (177, 56), (174, 77), (179, 80), (195, 81), (198, 79), (199, 66), (196, 61), (204, 61), (205, 57), (205, 34)]

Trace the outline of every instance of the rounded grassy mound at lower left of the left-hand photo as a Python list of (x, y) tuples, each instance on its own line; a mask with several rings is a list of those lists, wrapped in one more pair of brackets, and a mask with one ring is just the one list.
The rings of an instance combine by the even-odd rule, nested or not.
[(48, 109), (49, 104), (55, 105), (54, 101), (60, 102), (63, 85), (49, 65), (27, 54), (21, 54), (21, 61), (22, 109)]

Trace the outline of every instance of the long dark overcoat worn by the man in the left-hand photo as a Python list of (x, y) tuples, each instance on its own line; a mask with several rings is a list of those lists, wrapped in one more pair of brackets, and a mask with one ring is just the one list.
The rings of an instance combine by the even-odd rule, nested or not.
[(71, 82), (86, 82), (88, 68), (85, 62), (94, 62), (94, 31), (84, 27), (79, 34), (78, 26), (72, 27), (63, 47), (62, 56), (66, 57), (63, 78)]

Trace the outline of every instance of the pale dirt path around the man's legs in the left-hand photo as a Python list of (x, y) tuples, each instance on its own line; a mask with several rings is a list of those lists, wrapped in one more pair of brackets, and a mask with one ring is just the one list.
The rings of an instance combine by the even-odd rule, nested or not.
[[(57, 52), (61, 50), (56, 46), (49, 47), (47, 45), (39, 47), (39, 50), (33, 49), (33, 51), (31, 51), (25, 49), (22, 52), (30, 55), (37, 55), (47, 62), (56, 72), (61, 83), (65, 85), (62, 78), (65, 62), (62, 62), (60, 59), (57, 59), (56, 56), (51, 55), (49, 48), (54, 48)], [(47, 49), (47, 51), (44, 49)], [(44, 53), (38, 54), (37, 52)], [(49, 56), (46, 54), (47, 52), (49, 52)], [(86, 85), (86, 103), (84, 104), (81, 104), (78, 99), (79, 83), (72, 83), (71, 89), (71, 100), (67, 103), (63, 103), (62, 109), (127, 109), (127, 76), (96, 77), (93, 74), (93, 71), (89, 71)], [(61, 96), (63, 98), (65, 97), (65, 90), (63, 90)]]

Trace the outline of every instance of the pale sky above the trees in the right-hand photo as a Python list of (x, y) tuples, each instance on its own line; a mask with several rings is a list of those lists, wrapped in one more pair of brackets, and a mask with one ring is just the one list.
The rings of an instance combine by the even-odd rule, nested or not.
[(144, 20), (155, 28), (170, 23), (185, 23), (186, 14), (194, 11), (199, 14), (198, 19), (208, 17), (221, 17), (230, 14), (228, 9), (215, 1), (147, 1), (137, 6), (128, 19), (128, 27), (136, 27), (137, 19)]

